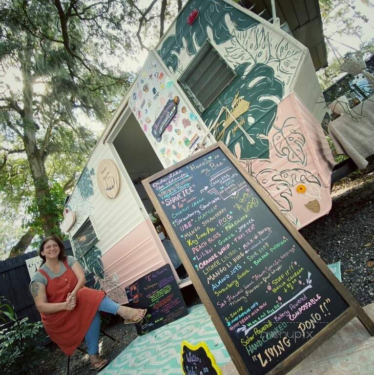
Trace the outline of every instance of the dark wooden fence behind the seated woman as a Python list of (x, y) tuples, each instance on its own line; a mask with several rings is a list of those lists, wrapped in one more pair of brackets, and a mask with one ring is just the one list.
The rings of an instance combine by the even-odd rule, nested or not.
[[(73, 255), (70, 242), (64, 241), (63, 244), (65, 254)], [(25, 260), (37, 255), (37, 251), (32, 251), (0, 261), (0, 296), (12, 303), (18, 317), (28, 316), (31, 322), (41, 318), (29, 292), (30, 276)]]

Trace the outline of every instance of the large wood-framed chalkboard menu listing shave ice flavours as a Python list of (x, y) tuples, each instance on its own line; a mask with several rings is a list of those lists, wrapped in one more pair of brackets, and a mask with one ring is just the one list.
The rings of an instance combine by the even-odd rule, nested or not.
[(286, 374), (357, 316), (374, 322), (218, 143), (143, 181), (239, 374)]

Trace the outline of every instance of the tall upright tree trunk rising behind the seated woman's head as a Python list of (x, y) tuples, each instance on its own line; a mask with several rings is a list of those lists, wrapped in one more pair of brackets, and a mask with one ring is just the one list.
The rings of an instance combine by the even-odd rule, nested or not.
[[(37, 125), (33, 119), (33, 86), (32, 86), (32, 43), (28, 35), (26, 51), (20, 56), (21, 73), (23, 81), (23, 144), (27, 161), (30, 165), (31, 175), (35, 187), (36, 202), (42, 221), (44, 235), (48, 236), (59, 231), (57, 218), (51, 211), (51, 205), (54, 202), (51, 199), (50, 189), (48, 186), (47, 173), (45, 171), (44, 161), (36, 141)], [(56, 228), (57, 227), (57, 228)]]

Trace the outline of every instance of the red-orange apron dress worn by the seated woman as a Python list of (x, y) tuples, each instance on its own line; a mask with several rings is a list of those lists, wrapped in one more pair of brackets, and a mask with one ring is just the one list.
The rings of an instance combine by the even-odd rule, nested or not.
[[(38, 270), (48, 280), (45, 290), (49, 303), (65, 302), (67, 294), (77, 285), (77, 276), (66, 260), (63, 261), (63, 265), (66, 271), (53, 279), (47, 272)], [(66, 355), (73, 354), (82, 343), (104, 295), (103, 291), (83, 287), (77, 292), (77, 305), (74, 310), (41, 314), (45, 331)]]

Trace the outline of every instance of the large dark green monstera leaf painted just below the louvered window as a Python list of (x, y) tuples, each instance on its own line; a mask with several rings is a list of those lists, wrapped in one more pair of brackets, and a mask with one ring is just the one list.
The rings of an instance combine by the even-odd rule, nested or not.
[[(249, 109), (236, 118), (243, 123), (242, 128), (247, 132), (254, 144), (249, 142), (247, 136), (238, 129), (235, 123), (229, 125), (225, 131), (223, 141), (239, 159), (269, 158), (269, 140), (267, 138), (270, 128), (274, 123), (277, 104), (283, 98), (283, 84), (274, 77), (274, 70), (264, 64), (255, 64), (248, 74), (243, 72), (248, 64), (237, 67), (238, 77), (221, 94), (214, 104), (203, 113), (202, 118), (209, 127), (216, 120), (222, 106), (231, 109), (234, 98), (249, 102)], [(215, 130), (214, 136), (221, 134), (224, 128), (226, 113), (219, 119), (221, 125)], [(253, 143), (253, 142), (252, 142)]]

